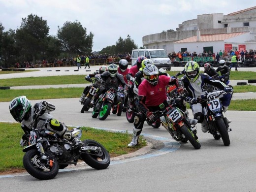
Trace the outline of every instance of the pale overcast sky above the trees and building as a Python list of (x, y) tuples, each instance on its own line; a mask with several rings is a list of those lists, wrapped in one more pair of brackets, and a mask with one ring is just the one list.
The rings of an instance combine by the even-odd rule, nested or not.
[[(247, 3), (245, 3), (247, 2)], [(129, 34), (138, 47), (148, 34), (175, 30), (197, 15), (224, 15), (256, 6), (241, 0), (0, 0), (0, 23), (5, 28), (20, 28), (22, 18), (30, 14), (42, 17), (56, 35), (65, 21), (79, 21), (94, 33), (93, 51), (115, 45)]]

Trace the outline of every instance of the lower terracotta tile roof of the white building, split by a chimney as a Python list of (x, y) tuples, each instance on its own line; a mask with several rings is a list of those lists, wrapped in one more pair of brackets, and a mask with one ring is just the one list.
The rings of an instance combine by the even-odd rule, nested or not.
[[(229, 34), (201, 34), (201, 39), (200, 42), (206, 42), (206, 41), (223, 41), (225, 39), (229, 39), (241, 34), (244, 34), (247, 32), (233, 32), (233, 33), (229, 33)], [(179, 41), (176, 41), (174, 43), (192, 43), (192, 42), (197, 42), (196, 41), (196, 36), (192, 36), (186, 39), (182, 39)]]

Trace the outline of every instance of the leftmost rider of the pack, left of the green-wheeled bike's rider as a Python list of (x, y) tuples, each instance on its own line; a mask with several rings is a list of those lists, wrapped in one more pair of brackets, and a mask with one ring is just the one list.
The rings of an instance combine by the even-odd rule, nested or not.
[[(91, 82), (91, 78), (92, 77), (95, 77), (96, 79), (96, 82), (94, 84), (94, 87), (98, 88), (100, 86), (100, 84), (102, 83), (102, 79), (99, 78), (101, 73), (103, 73), (104, 71), (107, 71), (107, 67), (102, 65), (99, 67), (98, 71), (95, 71), (93, 74), (89, 74), (87, 76), (85, 76), (85, 80), (87, 81), (90, 81)], [(80, 100), (79, 102), (83, 103), (84, 99), (85, 99), (85, 96), (87, 95), (88, 91), (91, 89), (92, 85), (89, 85), (89, 86), (86, 86), (81, 97), (80, 97)]]

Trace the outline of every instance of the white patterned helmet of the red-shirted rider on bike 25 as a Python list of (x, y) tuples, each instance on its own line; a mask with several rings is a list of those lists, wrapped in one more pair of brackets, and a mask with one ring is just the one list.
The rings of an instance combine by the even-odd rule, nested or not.
[(159, 70), (154, 64), (147, 64), (143, 69), (144, 78), (152, 85), (156, 86), (159, 80)]

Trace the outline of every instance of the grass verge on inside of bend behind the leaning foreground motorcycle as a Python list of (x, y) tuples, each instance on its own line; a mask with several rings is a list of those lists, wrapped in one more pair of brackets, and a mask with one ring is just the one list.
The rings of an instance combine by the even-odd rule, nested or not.
[[(110, 132), (89, 127), (83, 127), (82, 130), (81, 140), (96, 140), (107, 149), (111, 158), (134, 152), (146, 146), (146, 141), (142, 136), (137, 146), (127, 147), (131, 140), (131, 134), (128, 132)], [(24, 152), (20, 146), (20, 139), (24, 132), (20, 124), (0, 122), (0, 132), (0, 172), (23, 169)]]

